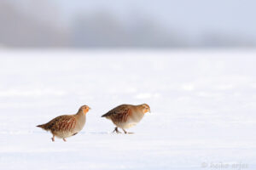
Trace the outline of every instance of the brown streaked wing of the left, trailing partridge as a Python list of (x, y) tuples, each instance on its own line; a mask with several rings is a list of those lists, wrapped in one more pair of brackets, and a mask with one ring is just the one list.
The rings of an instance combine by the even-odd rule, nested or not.
[(50, 122), (45, 124), (45, 127), (52, 132), (54, 131), (71, 131), (76, 125), (76, 119), (71, 115), (57, 116)]

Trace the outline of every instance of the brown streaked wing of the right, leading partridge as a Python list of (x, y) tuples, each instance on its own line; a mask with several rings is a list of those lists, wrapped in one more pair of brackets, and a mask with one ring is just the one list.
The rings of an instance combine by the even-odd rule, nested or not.
[(113, 110), (108, 111), (105, 115), (102, 115), (102, 117), (109, 117), (114, 122), (126, 122), (130, 114), (131, 109), (129, 105), (119, 105), (113, 108)]

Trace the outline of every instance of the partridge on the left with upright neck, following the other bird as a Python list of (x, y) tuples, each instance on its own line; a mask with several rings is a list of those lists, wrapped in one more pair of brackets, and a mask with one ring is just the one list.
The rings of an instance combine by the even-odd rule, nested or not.
[(90, 110), (90, 107), (83, 105), (79, 108), (77, 114), (74, 115), (62, 115), (57, 116), (53, 120), (38, 125), (46, 131), (50, 131), (53, 137), (52, 141), (55, 141), (55, 136), (63, 139), (66, 142), (66, 138), (79, 133), (85, 124), (86, 113)]

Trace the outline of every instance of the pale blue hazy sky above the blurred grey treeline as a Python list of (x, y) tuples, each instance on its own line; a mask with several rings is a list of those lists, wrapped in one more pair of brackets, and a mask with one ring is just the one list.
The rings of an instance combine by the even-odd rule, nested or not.
[(154, 18), (162, 25), (189, 31), (231, 31), (256, 36), (256, 1), (253, 0), (55, 0), (55, 4), (67, 16), (103, 10), (120, 20)]

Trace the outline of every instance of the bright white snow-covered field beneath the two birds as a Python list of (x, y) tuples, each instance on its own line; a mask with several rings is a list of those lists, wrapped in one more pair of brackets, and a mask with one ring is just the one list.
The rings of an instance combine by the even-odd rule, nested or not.
[[(0, 169), (256, 169), (256, 51), (0, 51)], [(116, 105), (151, 107), (113, 134)], [(89, 105), (67, 142), (36, 127)]]

